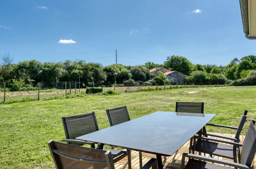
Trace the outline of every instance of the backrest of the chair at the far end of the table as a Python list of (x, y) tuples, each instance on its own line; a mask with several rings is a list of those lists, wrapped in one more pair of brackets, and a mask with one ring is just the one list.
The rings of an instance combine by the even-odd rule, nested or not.
[(175, 112), (204, 113), (204, 102), (176, 102)]

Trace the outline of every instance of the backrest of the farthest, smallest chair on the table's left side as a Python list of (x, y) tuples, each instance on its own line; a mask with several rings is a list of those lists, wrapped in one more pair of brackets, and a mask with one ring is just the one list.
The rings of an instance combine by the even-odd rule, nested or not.
[(131, 120), (126, 106), (106, 110), (110, 126)]

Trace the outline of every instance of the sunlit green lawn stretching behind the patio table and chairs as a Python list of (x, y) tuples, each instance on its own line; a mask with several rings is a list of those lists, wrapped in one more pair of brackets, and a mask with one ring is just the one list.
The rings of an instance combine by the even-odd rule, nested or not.
[[(127, 105), (131, 119), (155, 111), (174, 111), (175, 101), (205, 102), (205, 113), (217, 114), (211, 121), (237, 126), (245, 109), (256, 119), (256, 86), (183, 88), (122, 93), (82, 98), (18, 102), (0, 105), (0, 167), (52, 168), (47, 141), (65, 138), (61, 117), (94, 111), (100, 129), (109, 126), (106, 109)], [(245, 130), (248, 122), (245, 125)], [(230, 130), (206, 128), (211, 132)]]

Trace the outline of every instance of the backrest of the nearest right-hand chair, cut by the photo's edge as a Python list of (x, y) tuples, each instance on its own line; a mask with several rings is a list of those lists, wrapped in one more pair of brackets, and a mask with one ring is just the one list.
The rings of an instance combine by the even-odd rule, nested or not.
[(241, 151), (241, 163), (247, 166), (251, 166), (256, 152), (256, 130), (254, 125), (255, 121), (251, 120)]

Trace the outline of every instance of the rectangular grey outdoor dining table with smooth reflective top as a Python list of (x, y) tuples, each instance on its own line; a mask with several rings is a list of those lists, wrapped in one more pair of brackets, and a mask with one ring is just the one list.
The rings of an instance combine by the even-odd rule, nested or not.
[(114, 145), (127, 150), (155, 154), (163, 168), (162, 156), (171, 156), (199, 132), (215, 114), (154, 112), (76, 139)]

